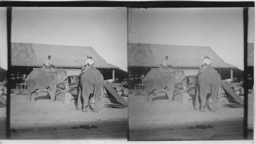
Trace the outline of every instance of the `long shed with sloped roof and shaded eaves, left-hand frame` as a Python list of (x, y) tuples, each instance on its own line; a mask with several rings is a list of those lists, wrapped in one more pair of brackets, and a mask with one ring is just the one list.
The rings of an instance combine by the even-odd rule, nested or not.
[(42, 67), (51, 55), (55, 67), (64, 68), (69, 76), (78, 75), (86, 64), (87, 55), (92, 56), (94, 66), (104, 80), (122, 82), (127, 72), (109, 64), (92, 48), (86, 46), (63, 46), (32, 43), (11, 43), (11, 73), (28, 75), (33, 69)]

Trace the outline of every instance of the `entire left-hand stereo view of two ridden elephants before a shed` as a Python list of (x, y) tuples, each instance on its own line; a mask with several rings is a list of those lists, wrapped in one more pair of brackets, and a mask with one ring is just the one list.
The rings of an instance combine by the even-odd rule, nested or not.
[(12, 8), (11, 139), (127, 139), (126, 8)]

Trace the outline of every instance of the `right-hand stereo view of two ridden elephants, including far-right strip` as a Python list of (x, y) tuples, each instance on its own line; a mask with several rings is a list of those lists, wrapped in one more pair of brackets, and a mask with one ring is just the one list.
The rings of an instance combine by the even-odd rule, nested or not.
[(254, 8), (129, 9), (129, 140), (253, 140), (253, 49)]

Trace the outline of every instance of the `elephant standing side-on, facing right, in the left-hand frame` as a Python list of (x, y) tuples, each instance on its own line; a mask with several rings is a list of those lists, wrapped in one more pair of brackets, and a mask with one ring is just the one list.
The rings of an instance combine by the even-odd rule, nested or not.
[[(57, 89), (62, 92), (68, 92), (69, 89), (68, 75), (64, 69), (55, 69), (54, 73), (35, 69), (27, 76), (25, 85), (26, 83), (28, 89), (26, 99), (31, 102), (35, 102), (34, 95), (36, 90), (47, 89), (51, 97), (51, 103), (53, 103)], [(66, 91), (59, 89), (63, 85), (67, 89)]]

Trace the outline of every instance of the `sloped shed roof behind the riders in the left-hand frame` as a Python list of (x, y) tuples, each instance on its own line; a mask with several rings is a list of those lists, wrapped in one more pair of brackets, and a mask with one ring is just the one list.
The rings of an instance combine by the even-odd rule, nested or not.
[(51, 55), (51, 63), (62, 68), (81, 68), (91, 55), (96, 68), (118, 67), (106, 63), (92, 48), (86, 46), (62, 46), (32, 43), (11, 43), (11, 65), (40, 67)]

